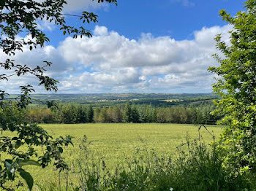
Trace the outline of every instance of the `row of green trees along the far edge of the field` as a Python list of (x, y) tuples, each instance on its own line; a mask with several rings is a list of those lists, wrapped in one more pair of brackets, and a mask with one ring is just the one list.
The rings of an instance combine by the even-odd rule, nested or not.
[(212, 115), (214, 106), (170, 106), (120, 104), (117, 106), (92, 107), (83, 104), (58, 104), (51, 109), (43, 106), (26, 109), (25, 117), (36, 123), (181, 123), (214, 125), (222, 116)]

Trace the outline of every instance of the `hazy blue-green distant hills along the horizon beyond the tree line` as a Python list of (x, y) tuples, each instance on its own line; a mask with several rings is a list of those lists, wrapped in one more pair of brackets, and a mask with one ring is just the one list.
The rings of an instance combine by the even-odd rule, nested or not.
[[(10, 95), (15, 98), (18, 95)], [(129, 101), (134, 104), (151, 104), (154, 106), (171, 106), (202, 104), (218, 98), (212, 93), (78, 93), (78, 94), (33, 94), (34, 104), (42, 101), (56, 101), (56, 103), (77, 103), (110, 106)]]

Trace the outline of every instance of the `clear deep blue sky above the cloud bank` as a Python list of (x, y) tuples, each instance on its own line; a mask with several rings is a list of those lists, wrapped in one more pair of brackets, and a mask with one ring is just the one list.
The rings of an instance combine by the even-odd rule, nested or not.
[[(82, 1), (82, 0), (77, 0)], [(176, 40), (193, 39), (193, 32), (203, 27), (224, 26), (219, 10), (226, 9), (231, 15), (243, 9), (241, 0), (119, 0), (118, 6), (86, 7), (99, 15), (99, 23), (110, 31), (116, 31), (129, 39), (139, 39), (142, 33), (154, 36), (171, 36)], [(71, 2), (72, 3), (72, 2)], [(83, 9), (72, 9), (79, 13)], [(71, 24), (78, 23), (75, 17), (67, 17)], [(95, 24), (86, 25), (93, 30)], [(57, 30), (56, 30), (57, 31)], [(64, 36), (52, 31), (50, 44), (58, 45)]]

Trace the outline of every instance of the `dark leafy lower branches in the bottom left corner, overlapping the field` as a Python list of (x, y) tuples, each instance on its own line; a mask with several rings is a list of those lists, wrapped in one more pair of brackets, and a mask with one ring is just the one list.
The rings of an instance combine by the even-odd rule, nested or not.
[[(1, 188), (12, 190), (6, 183), (14, 181), (19, 173), (31, 190), (33, 178), (23, 170), (23, 165), (39, 165), (45, 168), (54, 160), (53, 165), (60, 171), (67, 169), (67, 164), (61, 157), (61, 153), (64, 146), (72, 144), (70, 136), (53, 139), (46, 130), (34, 124), (27, 124), (22, 117), (22, 111), (15, 103), (1, 108), (0, 122), (2, 130), (13, 132), (12, 137), (1, 136), (0, 138), (0, 152), (7, 156), (0, 160)], [(41, 147), (44, 152), (39, 152), (37, 147)], [(34, 157), (37, 158), (37, 161), (31, 160)]]

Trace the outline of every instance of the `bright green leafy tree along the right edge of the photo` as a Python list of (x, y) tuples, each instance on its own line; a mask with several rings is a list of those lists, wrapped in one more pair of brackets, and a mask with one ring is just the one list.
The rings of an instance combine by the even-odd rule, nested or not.
[(225, 114), (222, 122), (227, 124), (219, 141), (224, 165), (240, 174), (256, 169), (256, 1), (246, 1), (245, 9), (234, 17), (219, 12), (233, 30), (230, 44), (217, 35), (217, 48), (224, 56), (215, 54), (220, 66), (209, 68), (218, 76), (213, 87), (221, 96), (215, 113)]

